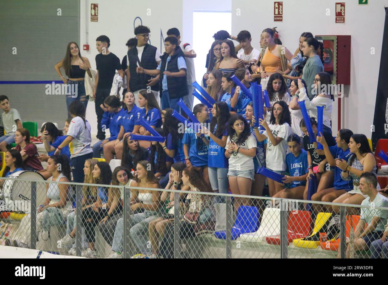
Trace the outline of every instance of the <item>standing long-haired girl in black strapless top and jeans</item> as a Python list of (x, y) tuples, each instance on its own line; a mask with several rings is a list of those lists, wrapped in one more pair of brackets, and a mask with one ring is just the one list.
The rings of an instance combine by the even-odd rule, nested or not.
[[(68, 79), (62, 76), (60, 70), (61, 67), (63, 67), (66, 76), (68, 76)], [(73, 97), (71, 93), (69, 95), (66, 95), (68, 117), (70, 117), (69, 106), (71, 102), (74, 102), (75, 100), (80, 101), (85, 106), (85, 109), (88, 105), (89, 97), (86, 95), (85, 92), (85, 72), (87, 72), (89, 76), (92, 77), (90, 68), (91, 66), (89, 60), (87, 59), (87, 57), (81, 56), (80, 48), (74, 41), (68, 43), (68, 46), (66, 47), (65, 57), (60, 62), (55, 64), (55, 70), (61, 77), (63, 83), (74, 85), (74, 87), (77, 86), (76, 97)], [(75, 90), (74, 87), (72, 88), (73, 90)]]

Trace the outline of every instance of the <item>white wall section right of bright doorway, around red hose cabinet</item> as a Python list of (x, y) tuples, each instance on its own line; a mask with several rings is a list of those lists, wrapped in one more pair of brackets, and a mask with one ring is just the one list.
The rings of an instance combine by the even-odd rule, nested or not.
[[(345, 88), (342, 128), (371, 137), (385, 10), (388, 0), (345, 2), (345, 24), (335, 23), (335, 0), (283, 0), (283, 22), (274, 22), (274, 1), (232, 0), (232, 33), (248, 30), (252, 44), (260, 48), (260, 34), (265, 28), (277, 27), (279, 38), (292, 53), (298, 48), (302, 32), (313, 35), (351, 35), (351, 85)], [(340, 1), (337, 1), (340, 2)], [(257, 3), (252, 6), (252, 3)], [(326, 9), (330, 16), (326, 16)], [(241, 10), (237, 16), (236, 9)], [(371, 47), (375, 54), (371, 55)], [(337, 102), (337, 101), (336, 101)], [(335, 104), (337, 105), (337, 104)], [(337, 130), (337, 108), (333, 108), (333, 134)]]

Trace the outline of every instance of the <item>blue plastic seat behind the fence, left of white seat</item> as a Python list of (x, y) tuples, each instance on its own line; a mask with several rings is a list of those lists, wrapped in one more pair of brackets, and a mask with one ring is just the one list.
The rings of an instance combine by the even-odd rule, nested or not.
[[(240, 206), (237, 218), (232, 227), (232, 240), (236, 240), (243, 233), (253, 233), (259, 227), (259, 211), (257, 207)], [(215, 231), (216, 238), (226, 239), (226, 231)]]

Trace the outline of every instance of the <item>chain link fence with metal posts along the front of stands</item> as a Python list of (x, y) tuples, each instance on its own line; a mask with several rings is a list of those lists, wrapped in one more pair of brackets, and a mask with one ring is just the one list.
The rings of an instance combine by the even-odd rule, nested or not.
[[(386, 254), (381, 237), (388, 208), (373, 205), (3, 179), (2, 245), (89, 258), (369, 258)], [(48, 199), (51, 183), (59, 184), (66, 197)], [(160, 200), (163, 192), (168, 200)], [(140, 200), (131, 201), (134, 193)], [(248, 204), (234, 209), (235, 197), (247, 198)], [(155, 201), (157, 209), (152, 206)], [(379, 219), (371, 233), (363, 233), (369, 232), (364, 221), (375, 216), (385, 218)]]

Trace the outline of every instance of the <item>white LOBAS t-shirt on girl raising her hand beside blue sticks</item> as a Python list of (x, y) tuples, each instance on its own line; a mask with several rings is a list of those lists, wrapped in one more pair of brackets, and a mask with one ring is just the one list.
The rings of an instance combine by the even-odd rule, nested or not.
[(268, 125), (272, 134), (276, 137), (283, 138), (278, 145), (273, 145), (268, 137), (267, 131), (263, 132), (263, 135), (267, 136), (267, 153), (265, 158), (265, 164), (267, 168), (277, 171), (286, 170), (286, 151), (287, 151), (287, 139), (291, 134), (291, 127), (288, 123), (282, 125)]

